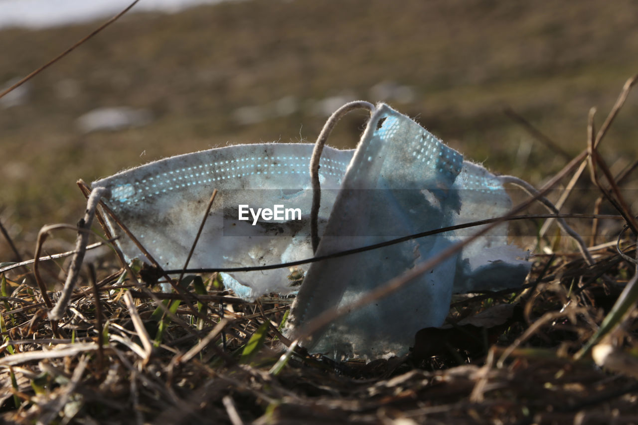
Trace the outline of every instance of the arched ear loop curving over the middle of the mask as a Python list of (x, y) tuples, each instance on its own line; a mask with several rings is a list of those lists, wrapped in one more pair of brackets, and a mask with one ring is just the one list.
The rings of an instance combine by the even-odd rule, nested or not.
[(310, 211), (310, 237), (313, 244), (313, 253), (316, 252), (319, 246), (319, 234), (317, 229), (317, 221), (319, 217), (319, 207), (321, 205), (321, 184), (319, 182), (319, 160), (321, 160), (321, 154), (323, 152), (323, 145), (328, 140), (332, 129), (348, 112), (352, 112), (355, 109), (367, 109), (370, 115), (375, 113), (375, 105), (363, 100), (352, 101), (346, 103), (341, 108), (336, 110), (323, 124), (321, 133), (317, 137), (315, 142), (315, 149), (313, 149), (313, 156), (310, 159), (310, 180), (313, 188), (313, 207)]

